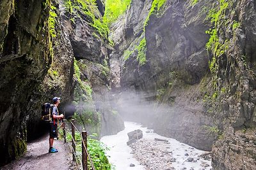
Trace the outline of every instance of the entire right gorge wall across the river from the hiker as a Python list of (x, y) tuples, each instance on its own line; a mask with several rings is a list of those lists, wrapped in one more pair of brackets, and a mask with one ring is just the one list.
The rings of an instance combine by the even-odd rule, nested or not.
[(255, 169), (255, 5), (132, 1), (111, 28), (125, 118), (212, 150), (214, 169)]

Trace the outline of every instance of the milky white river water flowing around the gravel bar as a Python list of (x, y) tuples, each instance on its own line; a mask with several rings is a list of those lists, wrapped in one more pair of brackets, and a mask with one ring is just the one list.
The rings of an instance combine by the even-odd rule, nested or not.
[[(158, 169), (158, 168), (152, 168), (150, 166), (145, 167), (140, 165), (140, 162), (134, 158), (134, 154), (132, 154), (132, 148), (127, 146), (126, 143), (128, 141), (127, 133), (134, 131), (136, 129), (140, 129), (143, 131), (143, 138), (144, 140), (152, 141), (150, 144), (152, 145), (163, 145), (163, 147), (166, 147), (166, 150), (169, 150), (172, 152), (170, 155), (170, 158), (174, 158), (175, 162), (170, 162), (172, 168), (174, 169), (211, 169), (211, 160), (204, 160), (204, 158), (198, 157), (198, 155), (205, 153), (202, 150), (197, 150), (196, 148), (193, 148), (192, 146), (186, 145), (184, 143), (180, 143), (179, 141), (172, 139), (172, 138), (166, 138), (164, 136), (160, 136), (159, 134), (154, 133), (152, 130), (150, 132), (146, 132), (149, 129), (147, 127), (141, 127), (141, 124), (136, 124), (134, 122), (125, 122), (125, 129), (124, 131), (118, 132), (118, 134), (111, 135), (111, 136), (103, 136), (100, 141), (104, 143), (106, 146), (108, 146), (109, 150), (106, 152), (106, 154), (109, 156), (109, 162), (115, 167), (116, 170), (145, 170), (145, 169)], [(159, 139), (167, 139), (168, 143), (164, 143), (161, 141), (154, 141), (154, 138)], [(141, 141), (143, 144), (145, 141)], [(136, 144), (137, 145), (137, 144)], [(140, 147), (140, 143), (138, 143), (138, 146)], [(148, 158), (148, 156), (145, 155), (145, 158), (143, 158), (143, 154), (141, 155), (143, 148), (138, 149), (138, 146), (136, 150), (134, 151), (135, 155), (140, 155), (139, 159), (146, 161), (146, 159), (149, 159), (147, 161), (150, 162), (151, 157)], [(143, 145), (141, 145), (143, 146)], [(145, 147), (145, 146), (143, 146)], [(145, 148), (144, 148), (145, 149)], [(137, 153), (136, 152), (141, 152)], [(186, 155), (188, 154), (188, 155)], [(163, 157), (163, 155), (162, 155)], [(164, 156), (165, 157), (165, 156)], [(193, 158), (193, 162), (188, 162), (188, 157)], [(163, 160), (163, 158), (159, 158), (159, 160)], [(186, 161), (187, 160), (187, 161)], [(154, 162), (154, 163), (153, 163)], [(152, 159), (152, 164), (157, 164), (158, 160)], [(130, 164), (134, 164), (134, 167), (130, 167)], [(158, 164), (161, 164), (159, 161)], [(207, 164), (207, 166), (205, 166)], [(208, 166), (209, 165), (209, 166)], [(164, 167), (165, 168), (165, 167)], [(168, 169), (169, 167), (166, 167)], [(170, 168), (170, 169), (172, 169)]]

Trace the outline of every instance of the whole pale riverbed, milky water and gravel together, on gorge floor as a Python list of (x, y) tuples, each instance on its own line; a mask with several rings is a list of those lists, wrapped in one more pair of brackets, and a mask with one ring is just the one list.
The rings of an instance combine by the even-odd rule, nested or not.
[[(127, 133), (136, 129), (143, 131), (143, 138), (134, 143), (131, 148), (126, 145), (129, 139)], [(168, 142), (155, 141), (155, 138), (165, 139)], [(106, 154), (116, 170), (159, 169), (161, 166), (164, 166), (164, 169), (208, 170), (212, 168), (211, 159), (205, 160), (204, 157), (198, 157), (205, 151), (197, 150), (175, 139), (160, 136), (152, 129), (141, 127), (141, 124), (134, 122), (125, 122), (124, 131), (104, 136), (100, 141), (108, 146), (109, 150)], [(154, 152), (153, 156), (152, 152)], [(193, 160), (189, 162), (188, 159)], [(134, 167), (131, 167), (131, 164), (134, 164)]]

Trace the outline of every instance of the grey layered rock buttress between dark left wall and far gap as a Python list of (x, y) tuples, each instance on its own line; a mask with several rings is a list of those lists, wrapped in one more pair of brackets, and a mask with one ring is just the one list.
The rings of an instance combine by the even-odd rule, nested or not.
[[(95, 11), (95, 16), (100, 17), (99, 11)], [(71, 25), (68, 31), (70, 43), (74, 57), (81, 65), (79, 67), (81, 81), (87, 82), (92, 87), (90, 103), (93, 105), (93, 112), (100, 113), (100, 131), (98, 132), (100, 136), (116, 134), (124, 129), (124, 121), (118, 113), (115, 113), (112, 106), (111, 71), (109, 69), (111, 47), (108, 39), (90, 26), (90, 20), (86, 19), (87, 16), (84, 13), (77, 12), (75, 15), (67, 13), (67, 17), (75, 20), (74, 23), (69, 22)], [(84, 104), (88, 101), (86, 97), (82, 98), (79, 103)]]

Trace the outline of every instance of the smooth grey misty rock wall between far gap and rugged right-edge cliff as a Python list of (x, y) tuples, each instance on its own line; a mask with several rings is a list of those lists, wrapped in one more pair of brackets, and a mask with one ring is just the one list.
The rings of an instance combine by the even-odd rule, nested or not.
[[(211, 150), (218, 134), (205, 128), (212, 127), (213, 121), (204, 114), (203, 103), (198, 99), (203, 96), (204, 85), (200, 81), (209, 73), (205, 50), (209, 26), (204, 23), (207, 11), (200, 11), (204, 3), (200, 1), (192, 8), (190, 2), (166, 1), (161, 14), (150, 15), (145, 24), (151, 4), (152, 1), (132, 1), (131, 8), (111, 28), (115, 32), (111, 69), (120, 67), (113, 85), (121, 89), (123, 97), (130, 95), (128, 100), (138, 99), (127, 107), (127, 112), (121, 106), (123, 115), (147, 124), (159, 134)], [(134, 48), (143, 38), (147, 42), (147, 61), (140, 65)], [(132, 52), (128, 58), (127, 51)], [(135, 95), (131, 97), (129, 92)]]

